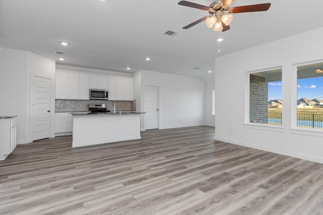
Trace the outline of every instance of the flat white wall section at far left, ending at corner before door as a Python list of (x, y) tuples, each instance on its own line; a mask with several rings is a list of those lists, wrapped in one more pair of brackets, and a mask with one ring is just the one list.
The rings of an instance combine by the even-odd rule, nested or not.
[[(0, 50), (0, 115), (17, 115), (17, 143), (28, 142), (29, 84), (27, 52), (2, 48)], [(29, 127), (29, 126), (28, 126)]]

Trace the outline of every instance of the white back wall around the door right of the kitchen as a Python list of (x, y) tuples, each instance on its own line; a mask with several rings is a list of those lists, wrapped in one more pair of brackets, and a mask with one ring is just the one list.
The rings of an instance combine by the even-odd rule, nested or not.
[[(198, 78), (141, 70), (141, 111), (145, 87), (159, 87), (159, 129), (204, 124), (204, 83)], [(142, 130), (145, 129), (144, 115)]]

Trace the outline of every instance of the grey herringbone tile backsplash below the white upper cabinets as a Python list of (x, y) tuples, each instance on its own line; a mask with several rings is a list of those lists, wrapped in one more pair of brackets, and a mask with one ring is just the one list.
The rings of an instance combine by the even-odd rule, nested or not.
[[(88, 104), (106, 104), (106, 109), (113, 110), (113, 101), (105, 100), (55, 100), (55, 112), (88, 111)], [(136, 101), (116, 101), (116, 110), (135, 111)]]

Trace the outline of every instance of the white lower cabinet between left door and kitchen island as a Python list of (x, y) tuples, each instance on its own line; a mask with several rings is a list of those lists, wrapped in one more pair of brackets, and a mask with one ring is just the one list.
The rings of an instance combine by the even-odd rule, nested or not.
[(73, 131), (73, 117), (68, 112), (55, 113), (55, 136), (70, 135)]

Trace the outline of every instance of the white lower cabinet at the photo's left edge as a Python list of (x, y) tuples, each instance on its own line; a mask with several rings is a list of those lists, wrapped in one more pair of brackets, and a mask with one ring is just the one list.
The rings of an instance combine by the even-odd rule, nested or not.
[(14, 151), (17, 146), (17, 117), (0, 119), (0, 161)]

